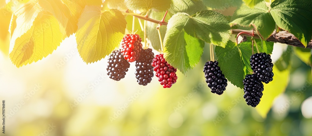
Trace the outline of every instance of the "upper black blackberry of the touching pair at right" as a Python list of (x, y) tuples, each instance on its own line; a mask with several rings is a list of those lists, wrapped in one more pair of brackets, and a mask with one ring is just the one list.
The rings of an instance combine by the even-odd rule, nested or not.
[(256, 53), (251, 55), (250, 65), (257, 76), (257, 80), (266, 84), (273, 80), (273, 63), (270, 54)]

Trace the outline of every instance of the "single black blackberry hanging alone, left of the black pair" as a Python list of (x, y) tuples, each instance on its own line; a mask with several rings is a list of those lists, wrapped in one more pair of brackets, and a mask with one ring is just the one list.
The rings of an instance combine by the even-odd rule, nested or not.
[(203, 72), (205, 73), (206, 82), (211, 89), (211, 92), (222, 95), (227, 87), (227, 79), (224, 77), (224, 74), (222, 74), (218, 62), (207, 62), (204, 66)]

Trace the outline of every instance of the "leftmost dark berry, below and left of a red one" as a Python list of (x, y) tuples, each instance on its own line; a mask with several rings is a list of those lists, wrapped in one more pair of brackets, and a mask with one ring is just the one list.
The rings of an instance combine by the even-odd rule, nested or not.
[(124, 59), (121, 53), (121, 49), (115, 50), (110, 54), (110, 58), (107, 60), (107, 75), (113, 80), (119, 81), (124, 78), (130, 63)]

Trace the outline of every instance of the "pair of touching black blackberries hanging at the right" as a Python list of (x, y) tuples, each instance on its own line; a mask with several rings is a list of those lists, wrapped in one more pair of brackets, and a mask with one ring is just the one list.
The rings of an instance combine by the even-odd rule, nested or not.
[(244, 85), (244, 98), (247, 105), (256, 107), (264, 90), (263, 83), (266, 84), (273, 80), (273, 63), (270, 54), (256, 53), (250, 57), (250, 65), (253, 74), (246, 75), (243, 80)]

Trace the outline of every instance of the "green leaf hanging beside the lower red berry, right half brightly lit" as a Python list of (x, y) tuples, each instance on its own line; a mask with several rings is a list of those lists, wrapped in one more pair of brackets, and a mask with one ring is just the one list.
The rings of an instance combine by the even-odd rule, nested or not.
[(168, 23), (163, 54), (169, 64), (186, 74), (199, 62), (205, 43), (185, 33), (184, 23), (182, 23), (184, 20), (181, 18)]

